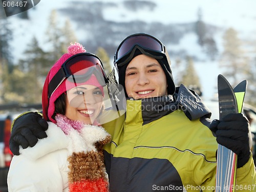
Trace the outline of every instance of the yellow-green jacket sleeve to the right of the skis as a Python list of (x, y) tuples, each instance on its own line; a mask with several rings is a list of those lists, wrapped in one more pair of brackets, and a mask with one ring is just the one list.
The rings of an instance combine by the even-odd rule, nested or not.
[(256, 191), (256, 172), (252, 154), (249, 161), (237, 169), (236, 192)]

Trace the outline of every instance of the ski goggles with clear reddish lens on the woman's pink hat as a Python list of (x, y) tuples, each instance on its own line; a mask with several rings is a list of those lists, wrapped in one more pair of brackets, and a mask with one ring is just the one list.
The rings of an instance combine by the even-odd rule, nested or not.
[(108, 83), (101, 60), (91, 53), (76, 54), (61, 65), (49, 83), (49, 98), (58, 90), (63, 81), (66, 83), (66, 91), (82, 84), (91, 84), (102, 88)]

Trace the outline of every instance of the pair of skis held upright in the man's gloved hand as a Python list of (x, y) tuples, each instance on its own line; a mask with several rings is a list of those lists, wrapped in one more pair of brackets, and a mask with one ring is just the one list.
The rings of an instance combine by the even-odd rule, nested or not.
[[(241, 113), (247, 81), (244, 80), (234, 89), (222, 75), (218, 76), (219, 118), (230, 113)], [(216, 191), (234, 192), (236, 184), (237, 155), (218, 144)]]

